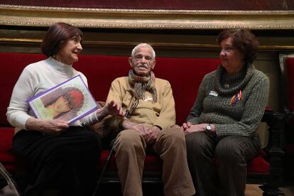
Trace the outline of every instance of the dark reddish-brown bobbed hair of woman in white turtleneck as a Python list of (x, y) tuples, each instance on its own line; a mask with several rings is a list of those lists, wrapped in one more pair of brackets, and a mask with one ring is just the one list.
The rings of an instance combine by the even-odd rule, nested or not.
[(83, 37), (82, 31), (67, 23), (55, 23), (45, 33), (41, 44), (41, 50), (47, 57), (58, 53), (62, 45), (73, 36)]

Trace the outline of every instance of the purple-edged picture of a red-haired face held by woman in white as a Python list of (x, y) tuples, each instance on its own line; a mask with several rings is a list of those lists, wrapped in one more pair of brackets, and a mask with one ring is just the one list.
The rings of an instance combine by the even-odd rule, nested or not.
[(97, 110), (97, 104), (80, 75), (27, 100), (38, 119), (72, 123)]

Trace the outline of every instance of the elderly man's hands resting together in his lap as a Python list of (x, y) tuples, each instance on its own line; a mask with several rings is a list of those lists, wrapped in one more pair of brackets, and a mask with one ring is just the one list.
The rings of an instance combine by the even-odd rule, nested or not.
[(158, 133), (160, 131), (158, 126), (151, 126), (150, 128), (148, 128), (148, 126), (146, 126), (146, 125), (136, 124), (136, 123), (133, 123), (128, 120), (124, 120), (122, 122), (122, 126), (124, 127), (124, 129), (134, 129), (134, 130), (138, 131), (138, 133), (141, 136), (143, 136), (146, 143), (153, 143), (154, 141), (156, 141), (156, 138), (157, 138)]

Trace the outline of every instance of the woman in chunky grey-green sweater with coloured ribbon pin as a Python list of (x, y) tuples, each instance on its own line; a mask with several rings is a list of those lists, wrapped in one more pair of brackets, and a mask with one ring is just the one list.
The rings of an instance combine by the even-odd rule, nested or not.
[(241, 196), (246, 163), (261, 148), (256, 129), (268, 100), (269, 80), (252, 65), (258, 41), (249, 30), (224, 30), (217, 41), (222, 63), (205, 75), (183, 124), (187, 157), (197, 195)]

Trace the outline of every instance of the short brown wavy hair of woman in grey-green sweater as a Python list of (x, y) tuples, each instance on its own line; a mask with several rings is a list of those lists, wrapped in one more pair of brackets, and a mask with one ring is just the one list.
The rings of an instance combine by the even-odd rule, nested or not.
[(244, 55), (244, 62), (252, 63), (256, 58), (259, 42), (249, 29), (225, 29), (217, 36), (217, 43), (233, 38), (233, 46)]

